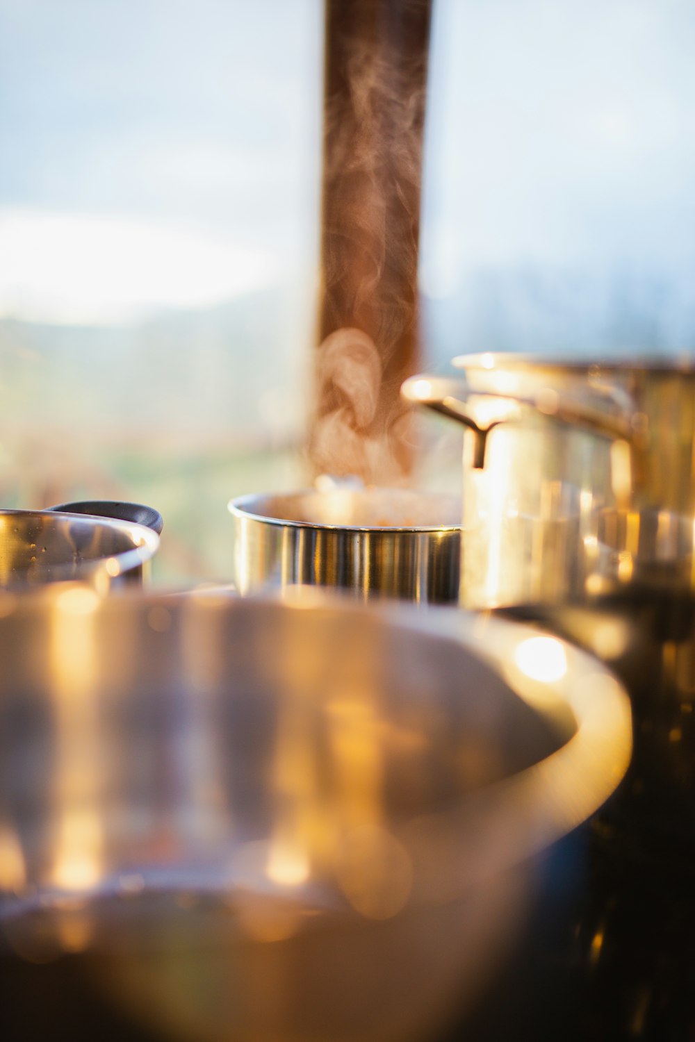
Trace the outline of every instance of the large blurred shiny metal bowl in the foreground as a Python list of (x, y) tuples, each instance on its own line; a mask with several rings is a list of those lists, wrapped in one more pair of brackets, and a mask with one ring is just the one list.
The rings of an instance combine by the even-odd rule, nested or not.
[(417, 1042), (620, 780), (627, 701), (525, 626), (293, 593), (0, 598), (2, 945), (166, 1038)]

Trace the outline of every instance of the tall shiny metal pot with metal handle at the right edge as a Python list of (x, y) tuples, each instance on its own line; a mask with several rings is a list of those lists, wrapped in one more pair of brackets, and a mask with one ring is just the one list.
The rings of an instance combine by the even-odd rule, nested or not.
[(461, 378), (414, 377), (403, 395), (466, 427), (463, 603), (560, 602), (644, 568), (690, 586), (692, 363), (480, 354), (454, 364)]

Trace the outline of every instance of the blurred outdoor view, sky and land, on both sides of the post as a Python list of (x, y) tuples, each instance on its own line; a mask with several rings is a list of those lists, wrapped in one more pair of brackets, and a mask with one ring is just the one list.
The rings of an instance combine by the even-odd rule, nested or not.
[[(322, 18), (0, 0), (2, 502), (151, 502), (162, 581), (223, 580), (227, 500), (306, 479)], [(694, 49), (687, 0), (436, 0), (423, 368), (695, 353)]]

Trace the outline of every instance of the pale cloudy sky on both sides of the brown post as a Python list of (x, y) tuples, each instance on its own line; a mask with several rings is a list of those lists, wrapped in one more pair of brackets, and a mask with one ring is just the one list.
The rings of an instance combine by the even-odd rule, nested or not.
[[(321, 0), (0, 0), (0, 315), (316, 267)], [(695, 5), (435, 0), (421, 282), (695, 266)]]

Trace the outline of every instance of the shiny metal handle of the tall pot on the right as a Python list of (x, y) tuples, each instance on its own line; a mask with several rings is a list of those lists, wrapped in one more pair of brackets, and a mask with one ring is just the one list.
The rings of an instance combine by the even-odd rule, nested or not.
[(426, 405), (469, 427), (475, 435), (473, 466), (485, 466), (488, 435), (500, 423), (528, 415), (551, 417), (559, 423), (587, 427), (604, 438), (632, 442), (635, 403), (619, 388), (582, 388), (569, 393), (540, 387), (530, 393), (471, 388), (464, 378), (411, 376), (401, 387), (406, 401)]

